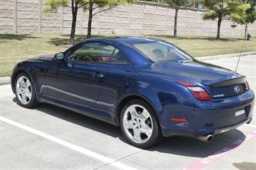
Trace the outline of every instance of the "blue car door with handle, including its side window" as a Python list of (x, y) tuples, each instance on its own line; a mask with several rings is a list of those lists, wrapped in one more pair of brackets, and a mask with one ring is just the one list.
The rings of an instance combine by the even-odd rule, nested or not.
[(97, 101), (107, 65), (104, 57), (115, 48), (101, 42), (88, 42), (67, 52), (65, 60), (54, 62), (45, 77), (53, 99), (90, 108)]

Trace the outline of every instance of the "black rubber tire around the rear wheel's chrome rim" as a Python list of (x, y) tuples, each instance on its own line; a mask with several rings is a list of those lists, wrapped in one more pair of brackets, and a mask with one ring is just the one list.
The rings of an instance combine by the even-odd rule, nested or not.
[[(133, 104), (139, 104), (143, 106), (148, 111), (148, 113), (150, 114), (150, 117), (152, 118), (152, 124), (153, 124), (152, 134), (150, 138), (147, 141), (145, 141), (145, 143), (136, 143), (132, 141), (125, 133), (124, 122), (123, 122), (124, 114), (127, 108), (129, 108), (129, 106), (132, 106)], [(124, 108), (122, 108), (122, 111), (120, 113), (120, 127), (122, 130), (122, 134), (124, 135), (124, 138), (128, 141), (128, 143), (138, 148), (149, 148), (153, 145), (156, 145), (157, 143), (159, 143), (159, 141), (161, 141), (161, 139), (163, 139), (159, 121), (156, 117), (155, 111), (152, 109), (152, 107), (148, 103), (139, 99), (134, 99), (129, 101), (127, 104), (125, 104)]]

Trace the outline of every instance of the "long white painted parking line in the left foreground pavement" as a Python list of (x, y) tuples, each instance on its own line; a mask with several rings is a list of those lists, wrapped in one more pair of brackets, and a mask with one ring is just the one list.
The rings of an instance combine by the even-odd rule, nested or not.
[(72, 150), (75, 150), (79, 153), (83, 153), (84, 155), (88, 156), (88, 157), (92, 157), (93, 159), (97, 159), (97, 160), (100, 160), (100, 162), (104, 162), (108, 165), (111, 165), (111, 166), (115, 166), (115, 167), (118, 167), (120, 169), (134, 169), (134, 167), (131, 167), (131, 166), (127, 166), (125, 164), (122, 164), (120, 162), (117, 162), (116, 160), (113, 160), (113, 159), (109, 159), (108, 157), (105, 157), (103, 155), (100, 155), (99, 153), (95, 153), (95, 152), (92, 152), (90, 150), (86, 150), (80, 146), (77, 146), (77, 145), (74, 145), (72, 143), (68, 143), (67, 141), (63, 141), (61, 139), (58, 139), (58, 138), (55, 138), (54, 136), (51, 136), (49, 134), (45, 134), (44, 132), (40, 132), (36, 129), (33, 129), (31, 127), (28, 127), (26, 125), (22, 125), (22, 124), (19, 124), (17, 122), (14, 122), (8, 118), (4, 118), (4, 117), (1, 117), (0, 116), (0, 120), (2, 122), (5, 122), (6, 124), (10, 124), (10, 125), (13, 125), (15, 127), (19, 127), (20, 129), (23, 129), (25, 131), (28, 131), (28, 132), (31, 132), (33, 134), (36, 134), (38, 136), (41, 136), (42, 138), (45, 138), (45, 139), (49, 139), (50, 141), (53, 141), (55, 143), (58, 143), (62, 146), (66, 146), (67, 148), (70, 148)]

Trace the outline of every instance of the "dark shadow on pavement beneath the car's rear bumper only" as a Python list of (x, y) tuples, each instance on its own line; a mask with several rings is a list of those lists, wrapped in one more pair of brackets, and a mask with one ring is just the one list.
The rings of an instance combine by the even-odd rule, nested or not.
[(243, 132), (237, 129), (214, 136), (210, 143), (205, 143), (195, 138), (173, 136), (165, 138), (160, 145), (156, 145), (148, 150), (204, 158), (209, 155), (214, 155), (214, 153), (222, 150), (228, 144), (237, 141), (237, 139), (244, 141), (244, 138), (245, 135)]

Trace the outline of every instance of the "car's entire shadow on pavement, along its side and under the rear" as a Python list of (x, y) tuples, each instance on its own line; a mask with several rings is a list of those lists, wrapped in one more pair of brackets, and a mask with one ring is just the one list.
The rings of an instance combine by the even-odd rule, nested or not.
[[(13, 102), (17, 103), (17, 100), (13, 98)], [(107, 134), (113, 138), (119, 138), (121, 141), (124, 141), (124, 143), (127, 143), (122, 135), (122, 132), (120, 131), (120, 128), (115, 127), (115, 125), (111, 125), (95, 118), (87, 117), (74, 111), (66, 110), (49, 104), (40, 104), (33, 109), (42, 111), (53, 117), (72, 122), (73, 124), (80, 125), (93, 131)], [(237, 129), (214, 136), (214, 139), (210, 143), (205, 143), (204, 141), (200, 141), (195, 138), (173, 136), (170, 138), (164, 138), (161, 143), (148, 148), (147, 151), (203, 158), (220, 151), (221, 149), (225, 148), (225, 146), (236, 141), (237, 139), (244, 140), (244, 137), (245, 135), (243, 132)]]

